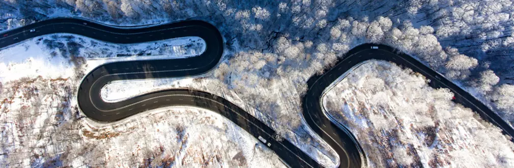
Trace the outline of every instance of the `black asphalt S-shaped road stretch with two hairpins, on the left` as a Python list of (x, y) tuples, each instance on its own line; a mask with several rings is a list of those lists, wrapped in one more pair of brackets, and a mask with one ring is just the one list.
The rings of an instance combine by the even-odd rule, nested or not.
[(228, 100), (201, 91), (164, 90), (140, 95), (120, 102), (105, 102), (101, 88), (115, 80), (187, 77), (203, 74), (217, 65), (223, 54), (223, 38), (218, 30), (203, 21), (186, 20), (145, 28), (122, 28), (101, 25), (76, 18), (44, 20), (0, 34), (0, 48), (22, 40), (52, 33), (72, 33), (110, 43), (133, 44), (169, 38), (197, 36), (203, 38), (206, 50), (199, 56), (168, 60), (137, 60), (101, 65), (88, 73), (78, 90), (78, 104), (89, 118), (117, 121), (146, 110), (167, 106), (192, 106), (217, 112), (258, 138), (289, 166), (322, 167), (308, 154), (287, 140), (276, 141), (271, 128)]

